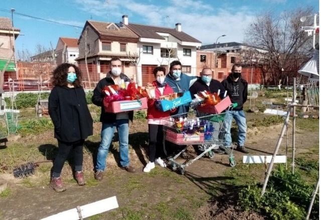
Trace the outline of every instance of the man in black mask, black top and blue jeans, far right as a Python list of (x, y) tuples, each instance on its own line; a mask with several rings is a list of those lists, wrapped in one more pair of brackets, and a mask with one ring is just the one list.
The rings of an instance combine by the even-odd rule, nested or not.
[(238, 127), (238, 140), (236, 150), (243, 153), (249, 151), (244, 147), (246, 138), (246, 118), (243, 111), (243, 104), (247, 100), (247, 82), (241, 78), (242, 66), (240, 64), (234, 64), (232, 67), (232, 73), (225, 79), (222, 84), (227, 90), (227, 95), (230, 97), (232, 103), (237, 103), (237, 107), (230, 109), (226, 112), (227, 117), (225, 119), (225, 143), (222, 147), (225, 152), (229, 151), (231, 147), (231, 124), (233, 118), (236, 121)]

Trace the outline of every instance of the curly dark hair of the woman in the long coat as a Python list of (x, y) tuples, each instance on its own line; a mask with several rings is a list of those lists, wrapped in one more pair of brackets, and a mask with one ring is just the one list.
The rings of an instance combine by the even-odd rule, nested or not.
[(53, 76), (51, 78), (51, 82), (53, 86), (67, 86), (67, 74), (69, 67), (73, 67), (75, 69), (75, 73), (77, 75), (77, 79), (72, 83), (74, 87), (81, 86), (81, 71), (80, 69), (74, 65), (69, 63), (60, 64), (53, 72)]

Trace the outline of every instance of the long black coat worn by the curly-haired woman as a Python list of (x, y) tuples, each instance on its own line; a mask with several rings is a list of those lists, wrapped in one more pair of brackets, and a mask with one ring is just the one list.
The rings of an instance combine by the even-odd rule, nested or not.
[(93, 134), (93, 121), (82, 87), (55, 86), (49, 95), (48, 109), (55, 138), (74, 142)]

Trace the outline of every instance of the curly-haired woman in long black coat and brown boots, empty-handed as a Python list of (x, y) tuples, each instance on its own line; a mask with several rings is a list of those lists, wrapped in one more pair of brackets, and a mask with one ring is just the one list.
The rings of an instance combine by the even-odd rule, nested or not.
[(58, 155), (54, 160), (49, 187), (57, 192), (65, 191), (60, 173), (72, 153), (74, 175), (78, 185), (85, 185), (82, 172), (83, 144), (93, 133), (93, 121), (87, 106), (86, 95), (81, 87), (81, 72), (73, 64), (59, 65), (53, 72), (49, 96), (49, 115), (58, 140)]

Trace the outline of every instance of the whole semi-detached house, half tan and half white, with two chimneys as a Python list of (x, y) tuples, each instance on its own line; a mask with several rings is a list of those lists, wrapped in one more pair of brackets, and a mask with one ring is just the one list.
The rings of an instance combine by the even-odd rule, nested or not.
[[(109, 71), (109, 61), (118, 57), (123, 62), (123, 72), (139, 84), (154, 80), (152, 70), (156, 66), (167, 69), (174, 60), (182, 62), (182, 71), (196, 75), (196, 49), (201, 42), (176, 28), (164, 28), (128, 23), (122, 16), (120, 23), (87, 21), (79, 38), (80, 66), (85, 64), (85, 53), (89, 72), (97, 68), (101, 77)], [(136, 62), (136, 66), (132, 61)], [(136, 76), (138, 79), (136, 79)]]

